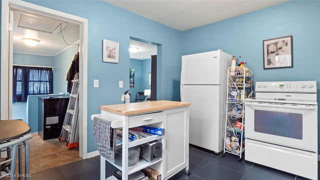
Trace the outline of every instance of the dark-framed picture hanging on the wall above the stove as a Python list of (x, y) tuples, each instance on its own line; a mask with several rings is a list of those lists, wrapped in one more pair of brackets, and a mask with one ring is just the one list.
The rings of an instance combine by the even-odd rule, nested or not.
[(263, 68), (292, 67), (292, 35), (263, 40)]

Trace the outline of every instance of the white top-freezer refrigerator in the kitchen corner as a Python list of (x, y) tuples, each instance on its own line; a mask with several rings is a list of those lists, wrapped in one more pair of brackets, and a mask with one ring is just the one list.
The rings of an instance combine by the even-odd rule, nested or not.
[(232, 55), (221, 50), (183, 55), (180, 97), (190, 102), (189, 143), (223, 150), (227, 68)]

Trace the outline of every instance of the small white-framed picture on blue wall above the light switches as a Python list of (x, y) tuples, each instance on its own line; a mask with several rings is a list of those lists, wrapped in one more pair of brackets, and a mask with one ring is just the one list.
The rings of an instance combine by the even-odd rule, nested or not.
[(102, 61), (119, 63), (119, 42), (103, 39)]

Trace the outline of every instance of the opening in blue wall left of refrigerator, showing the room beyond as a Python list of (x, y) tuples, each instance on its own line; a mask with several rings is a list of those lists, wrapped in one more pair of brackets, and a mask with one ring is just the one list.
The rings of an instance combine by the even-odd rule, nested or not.
[[(142, 39), (130, 37), (130, 46), (136, 47), (136, 51), (129, 52), (130, 66), (129, 66), (129, 89), (130, 102), (138, 102), (143, 100), (136, 100), (137, 92), (143, 92), (145, 89), (151, 89), (149, 80), (151, 81), (151, 55), (156, 55), (157, 45), (152, 42), (147, 42)], [(150, 97), (145, 95), (144, 98)]]

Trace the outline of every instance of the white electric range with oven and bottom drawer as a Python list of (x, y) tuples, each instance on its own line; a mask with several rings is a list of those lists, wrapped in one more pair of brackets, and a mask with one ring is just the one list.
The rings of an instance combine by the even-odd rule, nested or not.
[(316, 81), (256, 82), (244, 110), (245, 160), (318, 179)]

